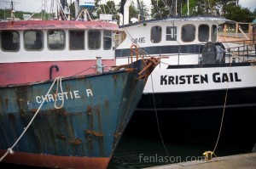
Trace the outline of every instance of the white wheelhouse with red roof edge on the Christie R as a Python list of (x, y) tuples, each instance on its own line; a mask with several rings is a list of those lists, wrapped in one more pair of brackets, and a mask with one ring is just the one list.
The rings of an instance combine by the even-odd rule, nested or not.
[(0, 29), (0, 63), (96, 59), (95, 56), (114, 59), (113, 35), (120, 31), (117, 25), (96, 25), (93, 21), (79, 25), (52, 21), (47, 26), (43, 22), (20, 21), (14, 23), (14, 29), (4, 29), (10, 24), (4, 23)]

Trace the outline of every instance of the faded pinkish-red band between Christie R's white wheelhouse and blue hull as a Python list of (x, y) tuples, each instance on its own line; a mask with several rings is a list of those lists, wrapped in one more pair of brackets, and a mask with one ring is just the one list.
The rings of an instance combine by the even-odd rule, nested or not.
[[(115, 65), (115, 60), (102, 60), (102, 64), (108, 65), (104, 68), (108, 71), (110, 66)], [(6, 63), (0, 64), (0, 86), (49, 80), (51, 65), (59, 67), (59, 71), (52, 70), (53, 79), (57, 76), (81, 76), (97, 72), (96, 60)]]

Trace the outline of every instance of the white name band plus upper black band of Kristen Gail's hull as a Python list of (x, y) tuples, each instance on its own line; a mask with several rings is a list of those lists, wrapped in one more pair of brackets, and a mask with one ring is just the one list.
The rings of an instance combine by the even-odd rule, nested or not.
[(251, 63), (172, 65), (154, 70), (137, 110), (255, 107), (255, 94), (256, 69)]

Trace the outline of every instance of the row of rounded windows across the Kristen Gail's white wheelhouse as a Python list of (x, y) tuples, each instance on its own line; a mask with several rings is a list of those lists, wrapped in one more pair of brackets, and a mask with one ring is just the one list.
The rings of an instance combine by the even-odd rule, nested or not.
[[(196, 27), (192, 24), (183, 25), (181, 28), (181, 40), (183, 42), (195, 41)], [(160, 25), (154, 25), (151, 28), (151, 42), (158, 43), (161, 41), (162, 27)], [(211, 31), (212, 42), (217, 40), (217, 25), (212, 25)], [(210, 26), (199, 25), (198, 26), (198, 41), (208, 42), (210, 38)], [(177, 26), (166, 26), (166, 41), (177, 41)]]

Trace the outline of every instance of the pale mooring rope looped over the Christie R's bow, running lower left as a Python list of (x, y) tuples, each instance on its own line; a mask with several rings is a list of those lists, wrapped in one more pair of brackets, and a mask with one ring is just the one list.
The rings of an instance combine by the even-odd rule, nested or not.
[[(57, 82), (56, 93), (58, 92), (58, 86), (59, 86), (59, 83), (60, 83), (60, 86), (61, 86), (61, 80), (62, 80), (62, 78), (63, 78), (63, 76), (59, 76), (59, 77), (56, 77), (56, 78), (55, 78), (55, 81), (54, 81), (54, 82), (51, 84), (51, 86), (49, 87), (49, 90), (48, 90), (48, 92), (46, 93), (46, 95), (48, 95), (49, 92), (51, 91), (52, 87), (54, 87), (55, 82)], [(62, 87), (61, 87), (61, 94), (62, 94), (62, 98), (63, 98)], [(28, 129), (28, 127), (31, 126), (32, 121), (34, 121), (35, 117), (38, 115), (39, 110), (41, 110), (41, 108), (42, 108), (42, 106), (43, 106), (43, 104), (44, 104), (44, 101), (45, 101), (45, 100), (43, 100), (42, 103), (39, 105), (37, 112), (35, 113), (35, 115), (33, 115), (32, 120), (28, 123), (28, 125), (24, 128), (24, 131), (20, 134), (20, 137), (16, 140), (15, 144), (13, 144), (13, 146), (11, 146), (9, 149), (7, 149), (6, 153), (0, 158), (0, 162), (3, 161), (3, 159), (6, 157), (6, 155), (8, 155), (8, 154), (13, 155), (13, 154), (14, 154), (14, 150), (13, 150), (13, 149), (14, 149), (15, 145), (18, 144), (18, 142), (20, 141), (20, 138), (22, 138), (22, 136), (25, 134), (25, 132), (26, 132), (26, 130)], [(55, 103), (56, 103), (56, 99), (55, 99)], [(63, 106), (63, 104), (64, 104), (64, 99), (62, 99), (62, 104), (61, 104), (60, 107), (57, 107), (56, 104), (55, 104), (55, 109), (61, 109), (61, 107)]]

